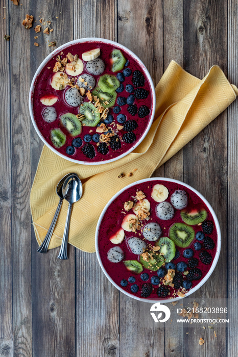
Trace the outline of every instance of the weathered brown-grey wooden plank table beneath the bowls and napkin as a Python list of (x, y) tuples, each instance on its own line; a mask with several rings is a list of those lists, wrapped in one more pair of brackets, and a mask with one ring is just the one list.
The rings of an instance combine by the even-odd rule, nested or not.
[[(29, 196), (42, 142), (28, 109), (33, 75), (52, 51), (48, 40), (57, 46), (92, 36), (118, 41), (141, 58), (155, 85), (172, 59), (199, 78), (218, 64), (237, 85), (237, 11), (235, 0), (22, 0), (19, 6), (2, 0), (1, 356), (238, 355), (235, 328), (223, 329), (215, 338), (201, 326), (186, 334), (183, 325), (170, 330), (154, 323), (150, 304), (119, 293), (101, 271), (96, 254), (70, 246), (69, 260), (62, 262), (58, 249), (37, 253)], [(26, 14), (34, 16), (34, 27), (41, 17), (43, 29), (51, 21), (50, 36), (41, 31), (34, 39), (34, 30), (21, 24)], [(4, 40), (6, 34), (10, 41)], [(234, 102), (154, 173), (193, 186), (218, 215), (222, 254), (196, 297), (237, 298), (237, 126)], [(198, 344), (200, 335), (203, 346)]]

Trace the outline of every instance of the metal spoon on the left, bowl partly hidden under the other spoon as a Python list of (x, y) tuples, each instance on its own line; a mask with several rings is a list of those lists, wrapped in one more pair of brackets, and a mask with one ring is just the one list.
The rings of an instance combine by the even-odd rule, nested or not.
[(65, 179), (74, 174), (73, 172), (70, 172), (70, 173), (67, 173), (61, 180), (60, 182), (58, 183), (57, 187), (56, 187), (56, 193), (57, 195), (59, 196), (60, 200), (59, 200), (59, 204), (58, 204), (58, 207), (56, 209), (56, 212), (55, 212), (55, 215), (54, 215), (54, 218), (51, 222), (51, 225), (50, 225), (50, 228), (41, 244), (41, 246), (37, 249), (37, 251), (39, 251), (40, 253), (46, 253), (47, 250), (48, 250), (48, 247), (49, 247), (49, 244), (50, 244), (50, 240), (51, 240), (51, 237), (52, 237), (52, 234), (53, 234), (53, 231), (54, 231), (54, 228), (55, 228), (55, 225), (56, 225), (56, 222), (57, 222), (57, 219), (58, 219), (58, 216), (59, 216), (59, 213), (60, 213), (60, 209), (61, 209), (61, 206), (62, 206), (62, 203), (63, 203), (63, 193), (62, 193), (62, 187), (63, 187), (63, 183), (65, 181)]

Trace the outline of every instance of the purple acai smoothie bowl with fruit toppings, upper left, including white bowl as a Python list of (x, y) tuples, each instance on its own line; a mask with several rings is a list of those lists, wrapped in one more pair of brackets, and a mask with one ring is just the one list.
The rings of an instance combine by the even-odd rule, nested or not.
[(155, 112), (151, 76), (131, 50), (84, 38), (55, 49), (37, 69), (29, 108), (57, 155), (96, 165), (118, 160), (146, 137)]

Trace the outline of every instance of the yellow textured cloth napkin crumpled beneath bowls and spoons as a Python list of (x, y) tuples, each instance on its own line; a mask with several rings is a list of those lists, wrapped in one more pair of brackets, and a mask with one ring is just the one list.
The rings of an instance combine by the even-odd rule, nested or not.
[[(147, 137), (126, 157), (104, 165), (79, 165), (43, 147), (32, 186), (30, 205), (38, 244), (51, 224), (59, 197), (56, 186), (68, 172), (77, 172), (83, 182), (83, 196), (74, 203), (69, 228), (69, 243), (94, 252), (98, 218), (108, 200), (123, 187), (150, 177), (208, 123), (227, 108), (238, 89), (213, 66), (203, 80), (184, 71), (172, 61), (156, 89), (155, 120)], [(133, 176), (118, 179), (121, 172)], [(64, 201), (49, 248), (61, 245), (67, 213)]]

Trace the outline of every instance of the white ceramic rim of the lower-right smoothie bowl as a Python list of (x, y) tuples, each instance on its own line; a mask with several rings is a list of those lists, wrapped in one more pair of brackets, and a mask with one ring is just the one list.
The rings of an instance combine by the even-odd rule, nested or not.
[[(101, 260), (101, 257), (100, 257), (100, 253), (99, 253), (99, 245), (98, 245), (98, 239), (99, 239), (99, 230), (100, 230), (100, 224), (102, 222), (102, 219), (108, 209), (108, 207), (110, 206), (110, 204), (112, 203), (112, 201), (118, 197), (121, 193), (123, 193), (126, 189), (128, 189), (129, 187), (132, 187), (134, 185), (137, 185), (139, 183), (143, 183), (143, 182), (150, 182), (150, 181), (156, 181), (156, 180), (160, 180), (160, 181), (169, 181), (169, 182), (174, 182), (174, 183), (177, 183), (177, 184), (181, 184), (183, 185), (184, 187), (187, 187), (188, 189), (190, 189), (191, 191), (193, 191), (194, 193), (196, 193), (205, 203), (205, 205), (207, 206), (207, 208), (209, 209), (213, 219), (214, 219), (214, 222), (215, 222), (215, 225), (216, 225), (216, 228), (217, 228), (217, 250), (216, 250), (216, 254), (215, 254), (215, 258), (212, 262), (212, 265), (209, 269), (209, 271), (207, 272), (207, 274), (204, 276), (204, 278), (201, 280), (201, 282), (196, 285), (193, 289), (189, 290), (188, 293), (186, 293), (186, 297), (188, 295), (191, 295), (193, 294), (195, 291), (197, 291), (199, 288), (201, 288), (201, 286), (207, 281), (207, 279), (209, 278), (209, 276), (211, 275), (212, 271), (215, 269), (216, 265), (217, 265), (217, 262), (218, 262), (218, 259), (219, 259), (219, 256), (220, 256), (220, 250), (221, 250), (221, 230), (220, 230), (220, 225), (219, 225), (219, 222), (218, 222), (218, 219), (217, 219), (217, 216), (215, 214), (215, 212), (213, 211), (210, 203), (206, 200), (205, 197), (203, 197), (203, 195), (201, 195), (201, 193), (199, 193), (197, 190), (195, 190), (193, 187), (187, 185), (187, 184), (184, 184), (183, 182), (181, 181), (177, 181), (177, 180), (173, 180), (173, 179), (168, 179), (168, 178), (165, 178), (165, 177), (151, 177), (150, 179), (145, 179), (145, 180), (140, 180), (140, 181), (136, 181), (128, 186), (126, 186), (125, 188), (123, 188), (121, 191), (117, 192), (111, 199), (110, 201), (106, 204), (105, 208), (103, 209), (100, 217), (99, 217), (99, 221), (98, 221), (98, 224), (97, 224), (97, 228), (96, 228), (96, 238), (95, 238), (95, 244), (96, 244), (96, 253), (97, 253), (97, 258), (98, 258), (98, 261), (99, 261), (99, 264), (104, 272), (104, 274), (106, 275), (106, 277), (109, 279), (109, 281), (118, 289), (120, 290), (122, 293), (136, 299), (136, 300), (139, 300), (139, 301), (144, 301), (144, 302), (150, 302), (150, 303), (155, 303), (156, 302), (156, 299), (144, 299), (144, 298), (140, 298), (140, 297), (137, 297), (133, 294), (130, 294), (128, 292), (126, 292), (125, 290), (123, 290), (119, 285), (117, 285), (113, 280), (112, 278), (110, 277), (110, 275), (107, 273), (107, 271), (105, 270), (103, 264), (102, 264), (102, 260)], [(175, 297), (173, 299), (158, 299), (157, 301), (159, 302), (162, 302), (162, 303), (166, 303), (166, 302), (173, 302), (173, 301), (177, 301), (177, 300), (180, 300), (182, 299), (182, 297)]]

